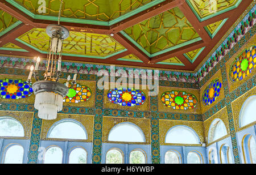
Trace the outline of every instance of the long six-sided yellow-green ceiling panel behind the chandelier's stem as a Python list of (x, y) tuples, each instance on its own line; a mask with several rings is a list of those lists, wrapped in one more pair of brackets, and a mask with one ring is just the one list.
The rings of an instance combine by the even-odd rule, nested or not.
[[(43, 28), (31, 29), (16, 40), (41, 53), (47, 53), (49, 48), (49, 36)], [(69, 56), (106, 58), (125, 50), (127, 49), (112, 37), (97, 33), (70, 31), (69, 37), (63, 41), (63, 55)]]

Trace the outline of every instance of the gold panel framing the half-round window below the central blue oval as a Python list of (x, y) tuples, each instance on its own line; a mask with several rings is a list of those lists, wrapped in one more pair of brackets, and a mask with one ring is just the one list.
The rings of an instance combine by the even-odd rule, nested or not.
[[(125, 117), (103, 117), (103, 130), (102, 130), (102, 142), (109, 142), (109, 143), (122, 143), (122, 142), (113, 142), (108, 141), (109, 132), (112, 130), (112, 128), (115, 125), (118, 125), (122, 122), (131, 122), (137, 125), (141, 128), (145, 135), (146, 143), (135, 143), (131, 142), (133, 144), (150, 144), (150, 119), (144, 119), (144, 118), (125, 118)], [(127, 142), (125, 142), (127, 143)]]

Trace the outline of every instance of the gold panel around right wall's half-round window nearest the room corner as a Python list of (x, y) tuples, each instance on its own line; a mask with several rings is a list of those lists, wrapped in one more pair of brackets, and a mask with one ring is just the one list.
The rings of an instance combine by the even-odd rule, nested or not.
[(228, 111), (226, 109), (226, 106), (224, 108), (222, 108), (221, 110), (219, 110), (216, 114), (213, 114), (212, 117), (208, 118), (207, 120), (204, 121), (203, 123), (203, 127), (204, 127), (204, 134), (205, 134), (205, 140), (207, 141), (207, 144), (212, 144), (214, 142), (217, 142), (218, 140), (222, 140), (222, 138), (215, 140), (212, 143), (208, 143), (208, 136), (213, 136), (213, 133), (209, 133), (209, 129), (210, 129), (210, 125), (212, 124), (212, 122), (214, 121), (214, 119), (219, 118), (224, 122), (224, 125), (226, 126), (227, 129), (227, 133), (228, 135), (224, 136), (227, 137), (230, 135), (230, 129), (229, 129), (229, 120), (228, 120)]

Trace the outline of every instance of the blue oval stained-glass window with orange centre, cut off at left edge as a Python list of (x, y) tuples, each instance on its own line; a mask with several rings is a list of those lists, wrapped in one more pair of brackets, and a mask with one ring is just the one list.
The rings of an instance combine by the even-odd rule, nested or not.
[(26, 98), (33, 93), (31, 84), (22, 80), (0, 80), (0, 96), (2, 99)]

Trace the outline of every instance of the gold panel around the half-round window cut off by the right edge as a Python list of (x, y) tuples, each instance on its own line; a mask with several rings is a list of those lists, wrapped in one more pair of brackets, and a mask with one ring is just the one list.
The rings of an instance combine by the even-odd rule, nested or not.
[(240, 128), (240, 122), (239, 122), (240, 112), (241, 112), (243, 103), (245, 102), (246, 99), (248, 99), (248, 97), (253, 95), (256, 95), (256, 87), (252, 88), (250, 91), (246, 92), (245, 94), (240, 96), (238, 99), (232, 101), (231, 103), (232, 113), (234, 118), (234, 125), (235, 125), (234, 128), (236, 132), (256, 124), (256, 122), (253, 122), (253, 123), (250, 123), (249, 125), (246, 125)]

